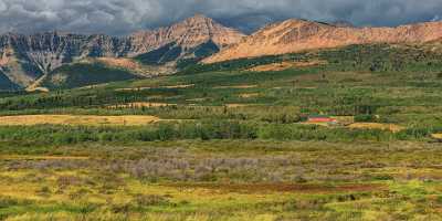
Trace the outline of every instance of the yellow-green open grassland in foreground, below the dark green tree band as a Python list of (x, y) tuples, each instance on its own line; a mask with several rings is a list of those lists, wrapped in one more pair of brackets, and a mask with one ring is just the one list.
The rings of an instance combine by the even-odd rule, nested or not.
[(442, 220), (439, 144), (1, 146), (0, 220)]

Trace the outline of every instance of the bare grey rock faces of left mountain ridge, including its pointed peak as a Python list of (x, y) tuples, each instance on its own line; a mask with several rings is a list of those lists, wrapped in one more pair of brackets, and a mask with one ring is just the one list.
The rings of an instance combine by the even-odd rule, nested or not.
[(135, 57), (168, 44), (180, 49), (179, 54), (172, 57), (178, 60), (209, 41), (222, 49), (238, 43), (243, 36), (203, 15), (122, 38), (59, 32), (32, 35), (10, 33), (0, 36), (0, 71), (15, 84), (27, 87), (42, 75), (76, 60)]

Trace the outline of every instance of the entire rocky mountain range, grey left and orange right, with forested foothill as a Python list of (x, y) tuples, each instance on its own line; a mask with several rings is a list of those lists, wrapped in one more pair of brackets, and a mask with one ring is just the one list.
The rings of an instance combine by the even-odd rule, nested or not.
[(202, 14), (127, 36), (8, 33), (0, 36), (0, 90), (76, 87), (158, 74), (187, 64), (277, 55), (351, 44), (422, 44), (442, 22), (355, 28), (291, 19), (246, 35)]

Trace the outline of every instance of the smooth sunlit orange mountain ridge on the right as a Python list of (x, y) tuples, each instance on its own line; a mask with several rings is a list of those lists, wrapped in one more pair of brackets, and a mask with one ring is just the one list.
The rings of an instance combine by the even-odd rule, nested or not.
[(294, 53), (369, 43), (424, 43), (442, 38), (442, 22), (398, 28), (337, 27), (305, 20), (287, 20), (267, 25), (220, 53), (203, 61), (228, 60)]

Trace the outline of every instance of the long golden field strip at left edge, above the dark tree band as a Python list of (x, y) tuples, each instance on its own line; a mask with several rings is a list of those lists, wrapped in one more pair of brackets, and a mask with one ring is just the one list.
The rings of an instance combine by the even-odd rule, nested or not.
[(139, 126), (160, 120), (155, 116), (93, 116), (93, 115), (19, 115), (1, 116), (0, 126), (18, 125), (117, 125), (117, 126)]

